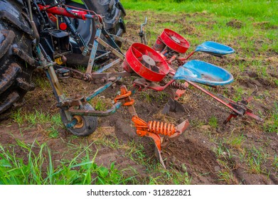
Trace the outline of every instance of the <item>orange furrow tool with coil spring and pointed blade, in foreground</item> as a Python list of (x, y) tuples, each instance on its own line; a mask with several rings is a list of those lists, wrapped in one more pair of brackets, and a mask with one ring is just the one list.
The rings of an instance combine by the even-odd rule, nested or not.
[(161, 146), (167, 146), (171, 140), (178, 139), (178, 137), (181, 136), (181, 134), (183, 134), (183, 132), (188, 128), (188, 120), (179, 124), (177, 127), (166, 122), (145, 122), (143, 119), (138, 117), (134, 108), (134, 99), (131, 97), (132, 91), (127, 91), (127, 87), (124, 85), (120, 88), (120, 90), (121, 94), (114, 98), (114, 102), (117, 103), (119, 100), (124, 101), (122, 105), (127, 106), (129, 113), (132, 114), (132, 122), (134, 122), (137, 135), (148, 136), (154, 141), (155, 155), (159, 158), (162, 166), (166, 168), (161, 156)]

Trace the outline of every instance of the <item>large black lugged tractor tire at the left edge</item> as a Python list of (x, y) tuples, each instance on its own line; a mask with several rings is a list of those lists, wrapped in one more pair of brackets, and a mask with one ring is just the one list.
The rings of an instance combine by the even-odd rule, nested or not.
[(32, 57), (30, 21), (21, 9), (16, 1), (0, 1), (0, 119), (6, 119), (10, 110), (21, 104), (26, 92), (35, 88), (31, 83), (33, 67), (22, 54), (20, 58), (15, 53), (19, 50)]

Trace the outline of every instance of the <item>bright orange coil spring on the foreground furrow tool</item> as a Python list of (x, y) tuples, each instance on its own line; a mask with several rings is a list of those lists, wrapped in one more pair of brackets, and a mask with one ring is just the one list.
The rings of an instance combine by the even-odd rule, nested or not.
[(164, 122), (150, 121), (149, 131), (154, 134), (161, 134), (164, 136), (172, 136), (176, 133), (176, 128), (173, 124), (168, 124)]

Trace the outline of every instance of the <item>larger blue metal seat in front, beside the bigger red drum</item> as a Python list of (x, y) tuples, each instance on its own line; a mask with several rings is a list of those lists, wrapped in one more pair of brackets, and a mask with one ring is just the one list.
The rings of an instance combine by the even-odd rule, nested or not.
[(180, 66), (173, 80), (188, 80), (203, 85), (228, 85), (233, 82), (232, 74), (219, 66), (200, 60), (191, 60)]

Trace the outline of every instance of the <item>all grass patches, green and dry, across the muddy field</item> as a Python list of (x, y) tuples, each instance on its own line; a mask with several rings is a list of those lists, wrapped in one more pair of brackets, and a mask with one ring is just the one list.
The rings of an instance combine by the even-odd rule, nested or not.
[[(77, 1), (77, 0), (76, 0)], [(80, 1), (80, 0), (79, 0)], [(276, 60), (278, 53), (277, 27), (278, 27), (278, 1), (127, 1), (122, 0), (122, 4), (127, 9), (125, 22), (128, 26), (138, 27), (144, 16), (148, 16), (148, 24), (145, 27), (149, 45), (154, 43), (157, 36), (164, 28), (173, 29), (181, 33), (190, 43), (190, 53), (196, 45), (203, 41), (218, 41), (231, 45), (235, 48), (234, 55), (226, 56), (222, 59), (196, 53), (194, 58), (206, 58), (210, 63), (220, 65), (229, 70), (235, 77), (235, 82), (226, 87), (223, 92), (225, 96), (231, 97), (235, 101), (241, 100), (245, 94), (247, 85), (238, 82), (249, 77), (249, 72), (254, 72), (254, 80), (268, 82), (278, 86)], [(169, 5), (171, 4), (171, 5)], [(144, 11), (142, 13), (141, 11)], [(240, 28), (228, 26), (232, 21), (239, 21)], [(132, 29), (132, 28), (131, 28)], [(137, 31), (138, 31), (137, 30)], [(137, 36), (136, 31), (128, 30), (130, 35)], [(270, 58), (274, 59), (271, 60)], [(269, 58), (269, 59), (267, 59)], [(78, 69), (84, 71), (81, 66)], [(95, 68), (97, 69), (97, 68)], [(257, 76), (256, 76), (257, 75)], [(251, 78), (251, 77), (250, 77)], [(46, 78), (35, 77), (35, 84), (43, 90), (50, 90), (50, 85)], [(264, 88), (264, 87), (263, 87)], [(267, 87), (266, 87), (267, 88)], [(231, 92), (232, 90), (232, 92)], [(250, 88), (250, 90), (252, 90)], [(237, 161), (240, 161), (242, 168), (248, 173), (265, 174), (268, 173), (267, 161), (271, 159), (271, 165), (277, 171), (278, 158), (275, 154), (270, 157), (264, 146), (267, 141), (257, 141), (257, 137), (263, 137), (265, 132), (278, 134), (278, 107), (277, 103), (267, 104), (264, 99), (275, 98), (275, 90), (262, 91), (261, 97), (255, 97), (256, 102), (266, 104), (267, 108), (272, 107), (263, 128), (260, 124), (255, 124), (247, 120), (245, 125), (229, 124), (227, 129), (219, 133), (216, 128), (222, 128), (220, 119), (209, 114), (207, 118), (196, 118), (192, 114), (190, 123), (191, 138), (193, 136), (209, 136), (210, 144), (215, 145), (215, 156), (218, 160), (220, 171), (216, 171), (218, 181), (228, 184), (238, 183), (237, 178), (232, 173), (236, 169)], [(265, 96), (265, 97), (263, 97)], [(140, 92), (139, 99), (152, 104), (166, 100), (166, 94), (159, 92)], [(108, 102), (109, 100), (109, 102)], [(185, 102), (190, 105), (190, 102)], [(166, 102), (166, 101), (165, 101)], [(188, 104), (187, 104), (188, 103)], [(197, 103), (197, 102), (192, 102)], [(92, 102), (97, 110), (105, 110), (111, 107), (111, 99), (96, 97)], [(197, 111), (197, 110), (196, 110)], [(265, 117), (262, 111), (262, 116)], [(164, 116), (165, 117), (165, 116)], [(17, 141), (16, 145), (0, 146), (0, 183), (3, 184), (190, 184), (195, 183), (194, 171), (188, 172), (184, 160), (178, 165), (172, 165), (171, 161), (165, 170), (158, 163), (154, 156), (148, 151), (153, 151), (153, 144), (146, 139), (135, 139), (123, 143), (114, 133), (114, 129), (99, 127), (95, 134), (88, 138), (78, 138), (68, 136), (64, 139), (59, 136), (59, 128), (63, 127), (59, 114), (48, 114), (35, 110), (34, 112), (14, 112), (12, 118), (20, 126), (20, 131), (42, 125), (43, 131), (51, 141), (63, 141), (66, 145), (65, 151), (51, 151), (46, 143), (35, 141), (33, 144), (25, 144)], [(169, 119), (167, 116), (166, 119)], [(165, 118), (164, 118), (165, 119)], [(171, 120), (171, 119), (169, 119)], [(238, 122), (238, 121), (237, 121)], [(206, 125), (208, 124), (208, 125)], [(204, 128), (201, 128), (205, 126)], [(28, 129), (27, 129), (28, 130)], [(108, 131), (108, 132), (107, 132)], [(232, 133), (230, 133), (232, 131)], [(264, 131), (264, 132), (263, 132)], [(227, 133), (228, 132), (228, 133)], [(255, 132), (255, 133), (254, 133)], [(194, 133), (194, 134), (193, 134)], [(247, 138), (246, 134), (252, 134)], [(272, 136), (273, 134), (267, 134)], [(60, 139), (58, 139), (60, 137)], [(186, 135), (187, 137), (187, 135)], [(189, 138), (189, 139), (191, 139)], [(196, 137), (193, 137), (195, 139)], [(184, 138), (183, 138), (184, 139)], [(199, 138), (198, 138), (199, 139)], [(202, 139), (202, 137), (200, 137)], [(257, 141), (257, 145), (253, 146)], [(87, 144), (87, 142), (90, 144)], [(180, 139), (181, 141), (181, 139)], [(86, 142), (86, 143), (85, 143)], [(251, 144), (250, 144), (251, 143)], [(115, 151), (124, 151), (122, 156), (131, 163), (140, 165), (146, 177), (141, 176), (142, 171), (128, 166), (124, 170), (117, 169), (114, 163), (109, 166), (101, 166), (95, 163), (95, 158), (100, 154), (92, 151), (89, 146), (94, 145), (95, 150), (109, 147)], [(23, 155), (18, 155), (18, 150), (24, 151)], [(166, 153), (168, 149), (165, 149)], [(70, 155), (69, 155), (70, 154)], [(59, 156), (56, 158), (55, 156)], [(60, 158), (61, 156), (61, 158)], [(167, 160), (168, 161), (168, 160)], [(206, 171), (204, 171), (206, 173)], [(127, 176), (125, 176), (127, 175)], [(205, 175), (204, 175), (205, 176)], [(217, 183), (217, 182), (216, 182)]]

